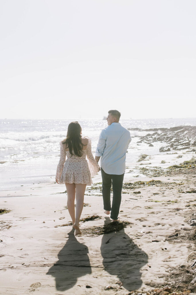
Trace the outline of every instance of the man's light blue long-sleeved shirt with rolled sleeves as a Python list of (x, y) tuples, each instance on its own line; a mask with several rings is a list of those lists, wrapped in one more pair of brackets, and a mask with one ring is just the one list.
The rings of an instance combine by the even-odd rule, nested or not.
[(112, 123), (101, 131), (95, 155), (101, 157), (101, 168), (105, 173), (121, 175), (125, 172), (130, 141), (130, 132), (120, 123)]

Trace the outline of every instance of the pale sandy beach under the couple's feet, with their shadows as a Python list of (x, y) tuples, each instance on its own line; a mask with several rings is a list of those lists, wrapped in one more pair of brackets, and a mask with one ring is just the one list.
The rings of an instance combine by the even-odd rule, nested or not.
[(100, 218), (81, 222), (82, 237), (71, 225), (61, 226), (71, 220), (65, 186), (2, 191), (0, 208), (11, 211), (0, 215), (0, 294), (123, 295), (166, 285), (171, 291), (161, 295), (196, 292), (195, 226), (189, 222), (196, 218), (196, 195), (188, 192), (196, 178), (194, 168), (188, 172), (153, 178), (127, 173), (119, 219), (130, 224), (103, 235), (99, 230), (110, 219), (103, 213), (100, 176), (86, 190), (81, 216)]

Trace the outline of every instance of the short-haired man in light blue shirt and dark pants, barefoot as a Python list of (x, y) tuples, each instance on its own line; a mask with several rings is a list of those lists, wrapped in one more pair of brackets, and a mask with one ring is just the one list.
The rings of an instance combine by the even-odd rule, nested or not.
[[(128, 145), (131, 141), (130, 132), (119, 123), (120, 112), (108, 112), (108, 127), (99, 136), (95, 159), (101, 157), (101, 176), (103, 208), (105, 214), (110, 214), (112, 222), (118, 220), (121, 203), (121, 191), (125, 174), (125, 159)], [(110, 189), (113, 189), (112, 207), (110, 203)]]

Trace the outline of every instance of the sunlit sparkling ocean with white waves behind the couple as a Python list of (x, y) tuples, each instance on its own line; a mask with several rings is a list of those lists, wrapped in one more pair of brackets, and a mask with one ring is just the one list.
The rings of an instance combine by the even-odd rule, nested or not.
[[(68, 124), (78, 121), (83, 136), (92, 140), (95, 155), (100, 131), (107, 126), (102, 119), (65, 120), (0, 120), (0, 177), (1, 189), (16, 188), (25, 184), (55, 181), (56, 166), (60, 156), (59, 142), (66, 137)], [(180, 125), (196, 125), (196, 118), (179, 119), (122, 119), (125, 128), (159, 128)], [(142, 154), (158, 153), (160, 143), (149, 148), (146, 144), (137, 147), (138, 136), (146, 131), (130, 131), (132, 141), (128, 148), (127, 162), (135, 162)], [(134, 172), (133, 172), (134, 173)]]

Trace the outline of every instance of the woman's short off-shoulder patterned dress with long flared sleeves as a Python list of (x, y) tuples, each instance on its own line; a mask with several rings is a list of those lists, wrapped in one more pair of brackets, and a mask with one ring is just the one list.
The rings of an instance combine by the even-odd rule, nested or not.
[(93, 183), (91, 177), (95, 176), (100, 169), (92, 155), (91, 140), (88, 138), (87, 148), (83, 150), (81, 157), (74, 155), (74, 153), (71, 155), (69, 151), (65, 151), (65, 145), (63, 145), (62, 141), (60, 146), (60, 160), (56, 170), (58, 182), (91, 185)]

